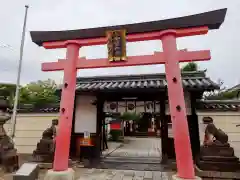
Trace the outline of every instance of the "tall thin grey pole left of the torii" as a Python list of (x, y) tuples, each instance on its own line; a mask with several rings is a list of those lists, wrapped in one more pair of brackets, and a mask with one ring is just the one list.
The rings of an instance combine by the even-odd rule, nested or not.
[(24, 16), (24, 23), (23, 23), (22, 40), (21, 40), (21, 46), (20, 46), (20, 58), (19, 58), (19, 64), (18, 64), (17, 83), (16, 83), (15, 98), (14, 98), (13, 115), (12, 115), (12, 132), (11, 132), (12, 138), (14, 138), (15, 136), (15, 129), (16, 129), (16, 116), (17, 116), (18, 99), (19, 99), (20, 77), (21, 77), (21, 70), (22, 70), (22, 59), (23, 59), (23, 49), (24, 49), (25, 34), (26, 34), (28, 7), (29, 7), (28, 5), (25, 5), (25, 16)]

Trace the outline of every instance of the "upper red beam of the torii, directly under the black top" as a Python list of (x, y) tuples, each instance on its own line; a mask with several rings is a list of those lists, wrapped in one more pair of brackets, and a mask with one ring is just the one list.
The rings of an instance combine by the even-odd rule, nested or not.
[[(175, 31), (176, 31), (177, 37), (195, 36), (195, 35), (207, 34), (208, 27), (177, 29)], [(164, 31), (130, 34), (130, 35), (127, 35), (126, 39), (127, 39), (127, 42), (156, 40), (161, 37), (162, 33), (164, 33)], [(76, 43), (76, 44), (79, 44), (79, 46), (102, 45), (102, 44), (107, 43), (107, 38), (101, 37), (101, 38), (95, 38), (95, 39), (80, 39), (80, 40), (45, 42), (45, 43), (43, 43), (43, 47), (45, 47), (46, 49), (65, 48), (67, 46), (67, 44), (69, 44), (69, 43)]]

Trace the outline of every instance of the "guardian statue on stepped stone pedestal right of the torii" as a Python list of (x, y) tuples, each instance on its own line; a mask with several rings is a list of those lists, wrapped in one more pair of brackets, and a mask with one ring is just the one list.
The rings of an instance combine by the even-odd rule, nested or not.
[(228, 143), (228, 135), (218, 129), (211, 117), (203, 118), (207, 124), (204, 143), (200, 148), (197, 166), (203, 171), (237, 172), (240, 171), (239, 159)]

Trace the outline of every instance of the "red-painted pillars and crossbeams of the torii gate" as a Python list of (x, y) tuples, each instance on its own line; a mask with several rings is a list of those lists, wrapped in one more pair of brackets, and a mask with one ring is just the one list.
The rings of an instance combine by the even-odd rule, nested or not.
[[(221, 13), (223, 13), (220, 18), (222, 23), (226, 14), (226, 9), (221, 10)], [(216, 22), (214, 23), (216, 24)], [(210, 26), (204, 26), (204, 23), (202, 24), (203, 25), (200, 23), (198, 26), (196, 25), (196, 27), (192, 28), (171, 28), (170, 30), (163, 31), (127, 34), (127, 42), (156, 39), (161, 40), (163, 52), (156, 52), (154, 55), (131, 56), (127, 57), (126, 61), (118, 62), (110, 62), (106, 58), (95, 60), (79, 58), (80, 47), (106, 44), (106, 37), (82, 38), (76, 40), (69, 38), (70, 40), (46, 40), (45, 42), (40, 42), (40, 45), (46, 49), (67, 49), (65, 60), (42, 64), (43, 71), (64, 71), (64, 86), (62, 89), (62, 97), (60, 103), (60, 122), (59, 131), (56, 138), (53, 170), (65, 171), (68, 169), (77, 69), (165, 64), (178, 177), (194, 179), (194, 164), (192, 159), (188, 124), (186, 120), (186, 108), (179, 62), (210, 60), (210, 51), (178, 51), (176, 39), (178, 37), (207, 34)], [(32, 34), (32, 38), (34, 39), (34, 32)]]

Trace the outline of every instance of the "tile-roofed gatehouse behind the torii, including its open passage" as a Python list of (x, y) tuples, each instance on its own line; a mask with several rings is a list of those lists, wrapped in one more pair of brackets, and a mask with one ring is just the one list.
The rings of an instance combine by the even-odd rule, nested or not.
[[(204, 71), (183, 72), (182, 82), (192, 154), (195, 158), (200, 149), (198, 116), (196, 113), (197, 100), (201, 99), (204, 91), (214, 90), (218, 86), (206, 77)], [(76, 141), (83, 137), (84, 131), (89, 131), (94, 144), (98, 145), (98, 147), (93, 147), (96, 150), (95, 152), (92, 151), (94, 154), (90, 155), (89, 152), (88, 157), (105, 157), (106, 153), (111, 152), (113, 149), (111, 147), (112, 142), (108, 142), (110, 144), (109, 149), (104, 150), (104, 137), (110, 133), (111, 129), (119, 131), (121, 122), (125, 122), (124, 139), (127, 138), (127, 140), (131, 141), (127, 141), (124, 147), (111, 153), (111, 157), (124, 156), (121, 159), (124, 164), (130, 162), (132, 156), (143, 160), (142, 158), (146, 157), (146, 153), (149, 153), (147, 155), (149, 159), (153, 155), (155, 156), (154, 160), (155, 164), (158, 165), (158, 169), (163, 167), (159, 165), (160, 162), (165, 164), (174, 161), (172, 123), (166, 87), (165, 74), (78, 78), (71, 138), (71, 158), (79, 160), (79, 153), (77, 153), (76, 157), (74, 151), (76, 151), (77, 147), (80, 147), (79, 143), (76, 144)], [(101, 101), (103, 106), (100, 103), (97, 106), (96, 102), (91, 104), (93, 100)], [(103, 108), (101, 109), (101, 107)], [(102, 111), (99, 112), (99, 110)], [(132, 117), (136, 115), (138, 117)], [(129, 118), (129, 116), (131, 117)], [(113, 126), (112, 122), (115, 122)], [(100, 128), (97, 128), (97, 124)], [(93, 127), (93, 129), (89, 128), (89, 126)], [(97, 137), (96, 134), (100, 136)], [(138, 139), (135, 140), (135, 137)], [(154, 142), (157, 144), (156, 146), (152, 145)], [(134, 150), (135, 152), (133, 152)], [(102, 156), (101, 151), (103, 151)], [(156, 158), (156, 154), (158, 154), (158, 158)], [(101, 162), (106, 159), (101, 158)], [(120, 158), (117, 160), (120, 160)], [(144, 163), (147, 164), (146, 161)]]

